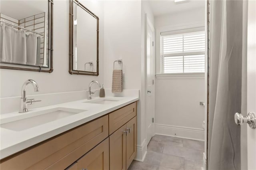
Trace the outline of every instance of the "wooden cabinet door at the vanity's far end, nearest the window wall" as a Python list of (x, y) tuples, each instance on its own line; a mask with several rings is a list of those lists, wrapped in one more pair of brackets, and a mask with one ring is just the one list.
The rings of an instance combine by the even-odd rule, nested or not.
[(137, 117), (132, 118), (126, 123), (126, 169), (132, 163), (137, 154)]

